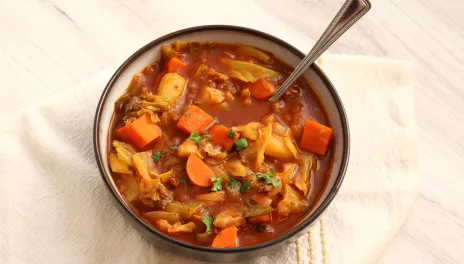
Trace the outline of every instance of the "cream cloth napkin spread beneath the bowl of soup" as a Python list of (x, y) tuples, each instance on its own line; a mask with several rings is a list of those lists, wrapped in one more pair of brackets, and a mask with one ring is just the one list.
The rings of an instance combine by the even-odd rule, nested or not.
[[(320, 63), (349, 116), (345, 181), (310, 232), (244, 263), (373, 263), (418, 194), (410, 65), (357, 56)], [(114, 70), (0, 119), (0, 263), (201, 263), (144, 240), (113, 206), (92, 126)]]

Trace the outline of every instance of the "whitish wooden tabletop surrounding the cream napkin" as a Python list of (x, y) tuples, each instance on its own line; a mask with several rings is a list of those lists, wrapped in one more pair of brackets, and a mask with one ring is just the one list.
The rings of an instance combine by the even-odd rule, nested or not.
[[(314, 41), (341, 2), (252, 3), (253, 8), (265, 10)], [(380, 263), (464, 263), (464, 1), (372, 2), (368, 17), (331, 52), (386, 56), (416, 64), (422, 175), (420, 199)], [(1, 99), (0, 116), (120, 63), (143, 44), (167, 33), (160, 32), (150, 19), (164, 4), (0, 0), (0, 90), (8, 94)], [(178, 10), (180, 15), (188, 13), (181, 7)], [(227, 18), (208, 22), (227, 23)], [(197, 24), (192, 21), (191, 25)]]

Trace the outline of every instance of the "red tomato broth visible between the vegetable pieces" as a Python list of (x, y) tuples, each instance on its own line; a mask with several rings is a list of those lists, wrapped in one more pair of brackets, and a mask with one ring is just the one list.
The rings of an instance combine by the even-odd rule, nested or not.
[[(207, 85), (203, 80), (197, 79), (194, 76), (196, 69), (199, 67), (200, 64), (206, 64), (210, 67), (215, 68), (218, 72), (221, 72), (222, 65), (220, 58), (224, 57), (225, 52), (229, 52), (231, 54), (235, 54), (235, 58), (237, 60), (244, 60), (244, 61), (253, 61), (256, 64), (260, 64), (267, 68), (276, 70), (280, 72), (283, 76), (288, 76), (291, 72), (291, 67), (284, 64), (283, 62), (279, 61), (277, 58), (271, 56), (271, 59), (268, 63), (263, 64), (262, 62), (241, 55), (237, 52), (238, 46), (229, 45), (229, 44), (213, 44), (212, 46), (200, 47), (194, 49), (189, 53), (181, 53), (180, 59), (185, 63), (185, 67), (180, 69), (178, 73), (183, 77), (188, 79), (187, 88), (182, 94), (182, 97), (178, 99), (178, 107), (171, 112), (173, 114), (177, 114), (179, 117), (185, 112), (185, 110), (191, 105), (191, 103), (196, 103), (195, 99), (200, 98), (204, 93), (204, 88)], [(156, 62), (152, 65), (145, 67), (142, 71), (141, 81), (144, 83), (147, 92), (156, 93), (157, 87), (160, 83), (161, 77), (167, 73), (163, 65), (163, 61)], [(276, 87), (278, 87), (285, 78), (273, 79), (270, 80)], [(242, 84), (241, 81), (232, 80), (232, 83), (238, 89), (241, 89)], [(315, 120), (321, 124), (326, 126), (330, 126), (328, 119), (326, 118), (326, 114), (324, 112), (324, 108), (319, 101), (318, 97), (315, 93), (311, 90), (309, 84), (302, 78), (300, 78), (297, 82), (297, 85), (302, 88), (301, 89), (301, 103), (302, 103), (302, 116), (304, 119), (311, 119)], [(188, 95), (193, 98), (189, 99)], [(280, 108), (278, 113), (274, 113), (277, 118), (282, 121), (285, 125), (290, 125), (289, 122), (286, 121), (286, 115), (291, 114), (293, 105), (292, 104), (284, 104), (283, 107)], [(240, 96), (235, 96), (235, 99), (231, 102), (228, 102), (228, 108), (225, 110), (224, 108), (218, 105), (208, 105), (208, 106), (201, 106), (201, 109), (214, 117), (218, 123), (223, 124), (227, 127), (243, 125), (252, 121), (260, 121), (264, 116), (269, 113), (272, 113), (272, 107), (269, 102), (266, 100), (255, 100), (252, 99), (250, 105), (244, 105), (243, 100)], [(113, 140), (121, 140), (121, 138), (115, 133), (115, 131), (124, 126), (123, 116), (124, 113), (122, 111), (117, 111), (116, 109), (113, 119), (110, 125), (110, 132), (108, 138), (108, 146), (112, 146), (111, 142)], [(158, 124), (158, 126), (163, 131), (162, 138), (150, 144), (144, 150), (152, 150), (155, 151), (164, 151), (165, 153), (161, 156), (160, 162), (155, 163), (155, 169), (158, 169), (161, 172), (167, 171), (171, 166), (165, 166), (165, 161), (169, 160), (172, 157), (176, 157), (176, 150), (171, 150), (171, 147), (174, 145), (179, 145), (183, 140), (185, 140), (188, 135), (180, 132), (176, 129), (175, 122), (171, 124)], [(299, 139), (296, 140), (299, 142)], [(298, 144), (296, 144), (298, 148)], [(298, 148), (299, 149), (299, 148)], [(301, 149), (299, 149), (301, 151)], [(108, 152), (113, 152), (114, 148), (110, 147)], [(186, 159), (184, 159), (185, 162)], [(272, 167), (276, 168), (277, 172), (282, 170), (283, 161), (279, 161), (277, 159), (273, 159), (268, 157), (266, 162), (269, 163)], [(309, 205), (306, 211), (311, 210), (311, 208), (317, 203), (318, 199), (322, 195), (326, 184), (329, 180), (331, 174), (331, 167), (333, 163), (333, 154), (332, 154), (332, 147), (329, 147), (329, 151), (325, 156), (317, 158), (317, 170), (311, 170), (311, 177), (310, 177), (310, 191), (306, 197), (306, 203)], [(177, 166), (175, 168), (174, 177), (177, 180), (180, 179), (187, 179), (186, 171), (185, 171), (185, 163), (184, 167)], [(118, 173), (112, 173), (113, 178), (115, 179), (116, 185), (120, 189), (120, 175)], [(205, 194), (209, 193), (210, 190), (208, 188), (200, 188), (193, 185), (188, 180), (186, 182), (179, 182), (176, 187), (170, 188), (173, 192), (173, 197), (175, 201), (180, 201), (182, 203), (187, 203), (195, 200), (196, 195), (198, 194)], [(215, 215), (227, 208), (237, 208), (243, 206), (243, 202), (237, 199), (226, 199), (224, 202), (219, 202), (211, 205), (206, 205), (207, 211)], [(143, 213), (153, 211), (153, 208), (146, 206), (145, 204), (141, 203), (140, 201), (134, 201), (131, 203), (132, 209), (143, 218)], [(272, 207), (277, 208), (275, 201), (272, 203)], [(294, 213), (289, 215), (288, 217), (282, 217), (277, 214), (277, 210), (272, 213), (272, 220), (269, 223), (269, 226), (272, 227), (273, 232), (257, 232), (256, 226), (251, 225), (249, 223), (245, 223), (241, 226), (238, 230), (238, 242), (237, 246), (248, 246), (253, 245), (261, 242), (265, 242), (271, 240), (275, 237), (280, 236), (281, 234), (285, 233), (296, 224), (300, 222), (300, 220), (305, 216), (306, 212), (302, 213)], [(149, 224), (156, 227), (155, 223), (152, 223), (148, 220)], [(217, 234), (221, 229), (212, 227), (212, 232)], [(196, 242), (196, 233), (185, 233), (185, 234), (177, 234), (172, 235), (178, 240), (185, 241), (191, 244), (197, 244)]]

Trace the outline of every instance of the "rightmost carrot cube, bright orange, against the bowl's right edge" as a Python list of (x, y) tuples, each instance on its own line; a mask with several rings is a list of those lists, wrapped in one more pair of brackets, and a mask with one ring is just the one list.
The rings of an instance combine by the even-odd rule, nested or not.
[(312, 120), (306, 120), (300, 145), (308, 151), (318, 155), (325, 155), (332, 136), (332, 128)]

